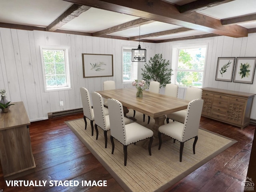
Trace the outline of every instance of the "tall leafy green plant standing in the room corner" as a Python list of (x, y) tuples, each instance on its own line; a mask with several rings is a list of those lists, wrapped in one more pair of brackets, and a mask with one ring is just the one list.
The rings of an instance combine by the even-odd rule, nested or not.
[(171, 82), (172, 69), (168, 68), (170, 61), (166, 62), (162, 58), (162, 54), (155, 54), (154, 57), (150, 57), (148, 63), (145, 64), (145, 69), (142, 69), (142, 79), (146, 81), (146, 84), (150, 84), (150, 81), (157, 81), (160, 83), (160, 88), (165, 87), (166, 84)]

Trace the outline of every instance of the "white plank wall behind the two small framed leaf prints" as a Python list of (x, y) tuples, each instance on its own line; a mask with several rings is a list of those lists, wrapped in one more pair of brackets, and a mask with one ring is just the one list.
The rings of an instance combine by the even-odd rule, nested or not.
[[(256, 75), (254, 76), (253, 84), (215, 80), (218, 57), (256, 57), (256, 33), (248, 34), (248, 37), (244, 38), (217, 36), (212, 38), (161, 43), (156, 44), (155, 50), (156, 54), (162, 53), (166, 60), (174, 62), (174, 48), (191, 45), (195, 46), (199, 44), (208, 45), (205, 74), (202, 87), (213, 87), (256, 94)], [(172, 64), (172, 68), (175, 68), (175, 64)], [(174, 78), (175, 76), (172, 76), (172, 82), (175, 82)], [(180, 98), (182, 98), (183, 93), (186, 94), (184, 88), (182, 88), (181, 91), (182, 93), (179, 94)], [(256, 119), (256, 97), (254, 97), (250, 118), (254, 120)]]

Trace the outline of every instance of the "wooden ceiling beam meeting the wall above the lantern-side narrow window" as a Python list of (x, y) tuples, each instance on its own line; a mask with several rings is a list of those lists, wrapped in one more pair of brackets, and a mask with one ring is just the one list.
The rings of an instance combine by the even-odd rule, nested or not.
[(144, 38), (171, 35), (171, 34), (177, 34), (177, 33), (182, 33), (182, 32), (186, 32), (186, 31), (192, 31), (192, 30), (194, 31), (194, 29), (181, 27), (181, 28), (177, 28), (177, 29), (171, 29), (171, 30), (166, 30), (166, 31), (161, 31), (161, 32), (156, 32), (156, 33), (150, 33), (150, 34), (145, 34), (145, 35), (141, 35), (141, 36), (134, 36), (134, 37), (130, 37), (128, 40), (137, 41), (137, 40), (142, 40)]

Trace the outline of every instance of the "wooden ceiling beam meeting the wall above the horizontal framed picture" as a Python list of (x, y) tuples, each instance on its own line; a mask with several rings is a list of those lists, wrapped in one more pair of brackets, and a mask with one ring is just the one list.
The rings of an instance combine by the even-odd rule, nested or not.
[(139, 19), (136, 19), (136, 20), (132, 20), (132, 21), (129, 21), (129, 22), (126, 22), (126, 23), (123, 23), (123, 24), (120, 24), (120, 25), (102, 30), (102, 31), (95, 32), (92, 35), (100, 37), (100, 36), (103, 36), (103, 35), (106, 35), (106, 34), (111, 34), (111, 33), (114, 33), (114, 32), (129, 29), (129, 28), (138, 27), (138, 26), (149, 24), (149, 23), (152, 23), (152, 22), (154, 22), (154, 21), (139, 18)]

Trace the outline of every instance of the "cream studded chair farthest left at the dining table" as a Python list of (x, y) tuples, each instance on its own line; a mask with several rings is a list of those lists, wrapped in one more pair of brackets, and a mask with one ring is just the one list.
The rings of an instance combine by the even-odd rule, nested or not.
[[(87, 121), (86, 118), (90, 120), (91, 127), (92, 127), (92, 136), (93, 136), (93, 121), (94, 121), (94, 111), (91, 105), (90, 95), (86, 88), (80, 87), (80, 95), (82, 100), (83, 112), (84, 112), (84, 122), (85, 128), (87, 128)], [(104, 108), (104, 113), (108, 115), (108, 109)]]

